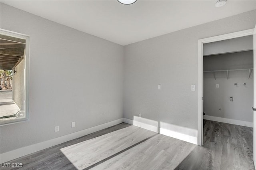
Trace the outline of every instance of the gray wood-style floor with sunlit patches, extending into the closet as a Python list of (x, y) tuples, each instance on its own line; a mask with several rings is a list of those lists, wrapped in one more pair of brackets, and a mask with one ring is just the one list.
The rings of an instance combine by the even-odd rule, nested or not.
[[(8, 163), (24, 170), (254, 170), (252, 132), (204, 121), (204, 146), (197, 146), (121, 123)], [(1, 167), (10, 169), (19, 168)]]

